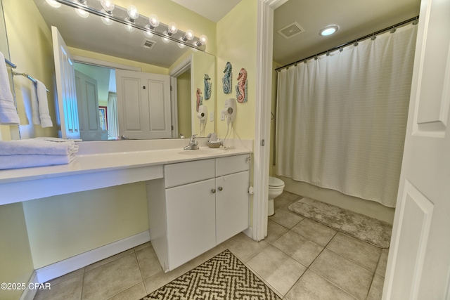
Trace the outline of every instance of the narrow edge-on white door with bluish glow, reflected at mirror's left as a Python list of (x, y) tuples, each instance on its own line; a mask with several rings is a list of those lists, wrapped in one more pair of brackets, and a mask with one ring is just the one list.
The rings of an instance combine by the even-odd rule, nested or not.
[(77, 94), (73, 59), (58, 28), (51, 27), (53, 58), (55, 60), (58, 119), (61, 138), (79, 138)]

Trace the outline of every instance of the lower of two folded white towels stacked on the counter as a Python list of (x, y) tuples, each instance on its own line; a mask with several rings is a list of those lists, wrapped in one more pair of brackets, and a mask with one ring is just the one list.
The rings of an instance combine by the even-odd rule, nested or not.
[(75, 155), (0, 155), (0, 170), (69, 164)]

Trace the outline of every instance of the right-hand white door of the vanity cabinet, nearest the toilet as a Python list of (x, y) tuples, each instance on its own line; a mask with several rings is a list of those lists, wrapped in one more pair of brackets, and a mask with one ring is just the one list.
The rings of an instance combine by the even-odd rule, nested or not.
[(248, 228), (248, 171), (216, 178), (216, 242)]

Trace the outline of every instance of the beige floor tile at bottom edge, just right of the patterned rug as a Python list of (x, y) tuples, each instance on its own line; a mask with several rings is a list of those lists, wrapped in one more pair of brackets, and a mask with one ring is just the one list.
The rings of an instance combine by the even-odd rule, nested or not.
[(354, 300), (342, 289), (328, 280), (307, 270), (292, 289), (286, 294), (286, 300)]

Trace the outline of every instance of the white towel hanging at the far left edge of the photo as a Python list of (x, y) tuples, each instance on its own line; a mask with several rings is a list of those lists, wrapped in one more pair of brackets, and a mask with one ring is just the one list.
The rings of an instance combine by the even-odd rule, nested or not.
[(15, 109), (14, 98), (9, 85), (8, 71), (4, 61), (5, 56), (0, 52), (0, 124), (19, 124), (19, 115)]

